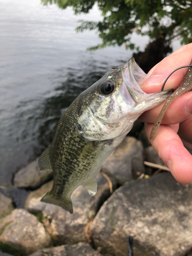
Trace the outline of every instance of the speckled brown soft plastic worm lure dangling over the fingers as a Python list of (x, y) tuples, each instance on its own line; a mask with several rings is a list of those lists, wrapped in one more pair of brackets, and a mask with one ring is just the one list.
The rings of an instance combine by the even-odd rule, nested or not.
[[(190, 61), (190, 65), (192, 65), (192, 60)], [(155, 138), (155, 136), (157, 135), (159, 126), (161, 124), (161, 121), (163, 119), (165, 112), (168, 109), (168, 106), (175, 99), (177, 99), (177, 97), (190, 91), (191, 89), (192, 89), (192, 67), (189, 67), (180, 86), (166, 99), (166, 101), (163, 105), (163, 108), (161, 109), (159, 116), (153, 125), (152, 131), (150, 133), (150, 140), (153, 140)]]

